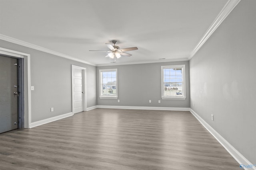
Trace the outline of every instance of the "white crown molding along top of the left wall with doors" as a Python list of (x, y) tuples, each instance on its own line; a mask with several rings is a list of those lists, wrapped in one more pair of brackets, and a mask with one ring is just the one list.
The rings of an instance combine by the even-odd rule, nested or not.
[(40, 47), (38, 45), (34, 45), (34, 44), (30, 44), (30, 43), (27, 43), (25, 41), (21, 41), (19, 39), (15, 39), (15, 38), (12, 38), (12, 37), (8, 37), (6, 35), (2, 35), (0, 34), (0, 39), (1, 40), (4, 40), (4, 41), (8, 41), (10, 43), (15, 43), (15, 44), (18, 44), (18, 45), (22, 45), (24, 47), (28, 47), (28, 48), (31, 48), (31, 49), (36, 49), (38, 51), (43, 51), (43, 52), (46, 52), (46, 53), (49, 53), (49, 54), (52, 54), (52, 55), (56, 55), (56, 56), (59, 56), (59, 57), (63, 57), (65, 59), (70, 59), (70, 60), (73, 60), (73, 61), (78, 61), (80, 63), (84, 63), (84, 64), (89, 64), (89, 65), (92, 65), (92, 66), (96, 66), (95, 64), (93, 63), (89, 63), (87, 61), (84, 61), (84, 60), (81, 60), (81, 59), (77, 59), (75, 57), (71, 57), (69, 55), (65, 55), (65, 54), (62, 54), (62, 53), (58, 53), (56, 51), (52, 51), (52, 50), (49, 50), (49, 49), (46, 49), (44, 47)]

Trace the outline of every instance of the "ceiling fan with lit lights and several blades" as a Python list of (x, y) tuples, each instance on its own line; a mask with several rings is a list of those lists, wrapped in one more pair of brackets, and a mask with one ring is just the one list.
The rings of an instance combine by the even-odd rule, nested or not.
[[(110, 57), (111, 59), (114, 59), (114, 63), (116, 62), (116, 59), (119, 59), (121, 57), (121, 55), (128, 56), (128, 57), (131, 56), (131, 54), (124, 53), (124, 51), (132, 51), (132, 50), (138, 49), (137, 47), (120, 49), (120, 47), (116, 46), (116, 42), (117, 42), (116, 40), (112, 40), (112, 43), (114, 45), (106, 43), (106, 46), (110, 49), (110, 51), (103, 50), (103, 52), (108, 52), (108, 55), (106, 55), (105, 57)], [(89, 51), (102, 51), (102, 50), (89, 50)]]

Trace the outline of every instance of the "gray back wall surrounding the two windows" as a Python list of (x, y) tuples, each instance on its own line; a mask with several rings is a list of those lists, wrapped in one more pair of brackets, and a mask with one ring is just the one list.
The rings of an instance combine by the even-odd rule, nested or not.
[[(186, 66), (186, 100), (162, 100), (161, 66)], [(143, 106), (143, 107), (190, 107), (189, 61), (131, 64), (97, 67), (97, 92), (99, 92), (99, 70), (118, 69), (118, 99), (100, 99), (97, 93), (97, 104), (103, 106)], [(149, 103), (149, 100), (152, 103)], [(161, 103), (158, 103), (161, 100)]]

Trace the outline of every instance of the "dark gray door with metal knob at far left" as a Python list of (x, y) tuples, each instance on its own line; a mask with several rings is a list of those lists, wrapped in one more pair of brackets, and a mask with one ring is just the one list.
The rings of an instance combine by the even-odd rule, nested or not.
[(18, 59), (0, 56), (0, 133), (18, 128)]

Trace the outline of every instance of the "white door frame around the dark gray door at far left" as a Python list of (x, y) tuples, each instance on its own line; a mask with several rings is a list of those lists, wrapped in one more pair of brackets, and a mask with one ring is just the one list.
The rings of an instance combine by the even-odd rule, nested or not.
[(31, 124), (31, 91), (30, 91), (30, 55), (26, 53), (21, 53), (19, 51), (14, 51), (10, 49), (5, 49), (0, 47), (0, 55), (13, 57), (19, 59), (20, 67), (19, 67), (19, 77), (21, 87), (21, 97), (19, 102), (20, 108), (18, 108), (18, 115), (20, 117), (19, 121), (19, 129), (22, 128), (30, 128)]

